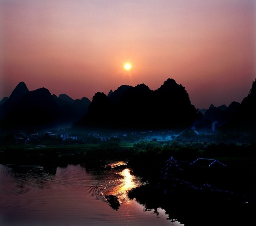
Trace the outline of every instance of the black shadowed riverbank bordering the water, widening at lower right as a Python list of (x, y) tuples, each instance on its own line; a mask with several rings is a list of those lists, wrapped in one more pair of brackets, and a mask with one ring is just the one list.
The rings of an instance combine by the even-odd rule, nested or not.
[[(127, 160), (131, 173), (147, 182), (128, 193), (129, 198), (143, 205), (145, 211), (164, 209), (170, 219), (176, 216), (183, 219), (185, 225), (250, 225), (255, 220), (256, 159), (251, 152), (253, 145), (244, 147), (221, 144), (214, 146), (215, 152), (213, 146), (202, 152), (170, 146), (158, 148), (160, 146), (157, 142), (142, 144), (122, 151), (119, 147), (107, 145), (87, 150), (71, 147), (26, 150), (9, 148), (0, 152), (0, 161), (17, 166), (27, 164), (27, 167), (41, 165), (45, 171), (54, 175), (58, 166), (82, 164), (86, 170), (99, 168), (104, 171), (106, 169), (102, 165), (117, 159)], [(142, 149), (138, 149), (140, 145)], [(227, 149), (224, 150), (224, 147)], [(172, 155), (181, 171), (171, 171), (169, 177), (164, 179), (166, 164)], [(190, 163), (198, 157), (218, 160), (225, 166), (213, 169), (191, 167)], [(202, 188), (203, 185), (206, 186)]]

